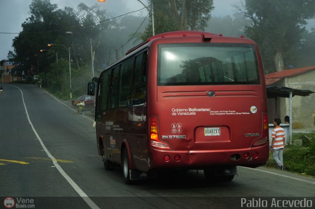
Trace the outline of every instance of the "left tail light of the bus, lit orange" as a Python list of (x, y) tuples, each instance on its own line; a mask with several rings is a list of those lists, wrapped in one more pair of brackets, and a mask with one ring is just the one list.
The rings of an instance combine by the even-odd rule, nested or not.
[(160, 150), (171, 150), (168, 143), (159, 140), (157, 115), (150, 118), (150, 146)]

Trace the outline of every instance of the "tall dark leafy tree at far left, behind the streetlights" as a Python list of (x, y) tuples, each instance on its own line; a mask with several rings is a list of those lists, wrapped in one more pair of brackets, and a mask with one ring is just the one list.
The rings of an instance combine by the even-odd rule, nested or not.
[[(48, 71), (47, 63), (54, 62), (55, 58), (50, 60), (48, 56), (40, 54), (40, 50), (45, 49), (48, 43), (64, 43), (65, 28), (78, 25), (72, 11), (69, 8), (62, 11), (49, 0), (32, 0), (31, 16), (22, 24), (22, 32), (13, 39), (14, 53), (10, 55), (21, 63), (20, 68), (25, 75), (28, 72), (33, 74), (30, 72), (31, 66), (41, 66), (41, 72)], [(67, 52), (62, 49), (59, 55), (65, 58)]]

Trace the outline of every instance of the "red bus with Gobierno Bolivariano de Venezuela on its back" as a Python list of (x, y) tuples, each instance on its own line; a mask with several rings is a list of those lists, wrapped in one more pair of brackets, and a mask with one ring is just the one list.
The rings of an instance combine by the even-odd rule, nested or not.
[(230, 181), (236, 166), (269, 156), (257, 45), (200, 31), (155, 35), (101, 73), (95, 121), (104, 167), (122, 165), (126, 183), (171, 169)]

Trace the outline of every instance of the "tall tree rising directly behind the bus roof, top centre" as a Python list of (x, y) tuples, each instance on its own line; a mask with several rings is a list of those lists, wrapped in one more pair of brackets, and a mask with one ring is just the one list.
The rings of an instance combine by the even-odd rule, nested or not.
[[(174, 30), (204, 30), (214, 9), (213, 0), (150, 0), (156, 33)], [(151, 17), (150, 17), (151, 18)], [(152, 36), (152, 19), (142, 37)]]

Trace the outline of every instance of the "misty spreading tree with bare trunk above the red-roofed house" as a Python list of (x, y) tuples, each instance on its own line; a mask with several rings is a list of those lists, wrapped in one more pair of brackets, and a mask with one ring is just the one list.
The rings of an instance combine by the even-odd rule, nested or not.
[(315, 17), (314, 0), (245, 0), (235, 5), (252, 26), (245, 31), (257, 42), (267, 72), (284, 70), (285, 59), (300, 40), (306, 20)]

